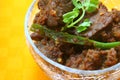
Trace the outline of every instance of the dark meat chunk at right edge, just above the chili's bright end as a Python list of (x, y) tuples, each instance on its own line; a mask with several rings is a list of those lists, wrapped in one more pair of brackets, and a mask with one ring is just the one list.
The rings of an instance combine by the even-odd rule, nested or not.
[(108, 27), (97, 32), (92, 38), (102, 42), (120, 41), (120, 11), (112, 10), (113, 21)]

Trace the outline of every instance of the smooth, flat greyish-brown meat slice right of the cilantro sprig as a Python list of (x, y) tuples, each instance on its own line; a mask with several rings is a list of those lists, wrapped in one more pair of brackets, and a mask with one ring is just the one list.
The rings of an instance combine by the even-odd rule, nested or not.
[(113, 16), (104, 5), (100, 4), (98, 12), (90, 17), (90, 21), (92, 26), (83, 33), (86, 37), (92, 37), (95, 33), (107, 27), (113, 21)]

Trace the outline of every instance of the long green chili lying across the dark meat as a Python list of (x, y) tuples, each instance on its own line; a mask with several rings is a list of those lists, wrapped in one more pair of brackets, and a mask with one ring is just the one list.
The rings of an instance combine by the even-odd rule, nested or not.
[(66, 42), (66, 43), (79, 44), (79, 45), (91, 45), (101, 49), (110, 49), (116, 46), (120, 46), (120, 41), (110, 42), (110, 43), (98, 42), (85, 37), (71, 35), (64, 32), (55, 32), (53, 30), (46, 28), (45, 26), (41, 26), (39, 24), (33, 24), (31, 30), (35, 32), (36, 29), (39, 29), (42, 33), (44, 32), (45, 36), (50, 37), (59, 42)]

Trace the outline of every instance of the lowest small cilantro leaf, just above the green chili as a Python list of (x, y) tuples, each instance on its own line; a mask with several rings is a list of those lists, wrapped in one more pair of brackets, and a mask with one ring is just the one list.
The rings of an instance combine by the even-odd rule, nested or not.
[(78, 33), (85, 31), (91, 25), (91, 21), (89, 19), (85, 19), (83, 23), (79, 26), (76, 26), (76, 30)]

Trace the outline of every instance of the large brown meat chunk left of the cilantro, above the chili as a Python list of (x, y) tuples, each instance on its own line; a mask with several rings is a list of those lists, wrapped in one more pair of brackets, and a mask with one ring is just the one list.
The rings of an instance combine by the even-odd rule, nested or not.
[(40, 12), (36, 15), (34, 23), (47, 25), (51, 29), (64, 25), (62, 16), (73, 9), (71, 0), (39, 0)]

